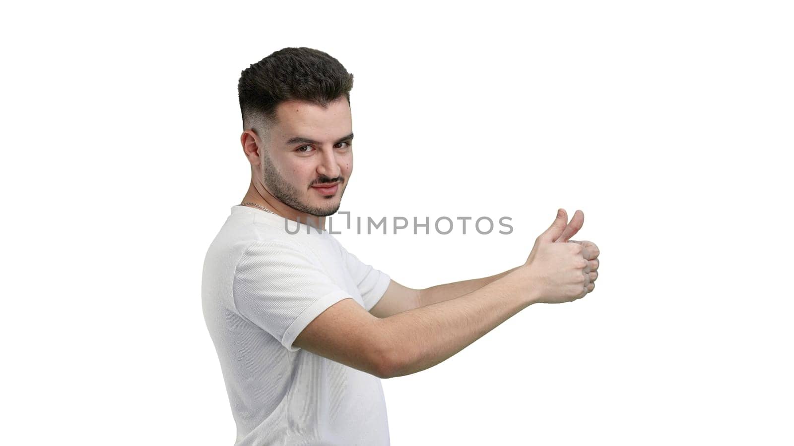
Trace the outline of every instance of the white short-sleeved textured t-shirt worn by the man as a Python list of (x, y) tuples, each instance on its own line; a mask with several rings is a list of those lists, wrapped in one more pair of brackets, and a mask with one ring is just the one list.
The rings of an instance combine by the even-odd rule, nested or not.
[(233, 206), (204, 260), (202, 309), (237, 424), (234, 445), (387, 445), (380, 379), (292, 342), (342, 299), (371, 310), (391, 279), (328, 231), (287, 223), (290, 233), (283, 217)]

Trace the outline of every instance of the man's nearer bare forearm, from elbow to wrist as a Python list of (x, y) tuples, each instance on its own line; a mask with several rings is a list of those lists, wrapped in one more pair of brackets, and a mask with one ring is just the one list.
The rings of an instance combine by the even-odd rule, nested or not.
[(389, 364), (385, 375), (410, 375), (433, 367), (529, 306), (536, 293), (523, 273), (506, 271), (515, 275), (459, 298), (380, 319), (382, 356)]

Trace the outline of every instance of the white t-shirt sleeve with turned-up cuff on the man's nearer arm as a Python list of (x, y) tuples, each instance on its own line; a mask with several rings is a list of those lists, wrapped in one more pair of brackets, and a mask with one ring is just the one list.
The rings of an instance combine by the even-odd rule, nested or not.
[(249, 244), (233, 278), (237, 312), (291, 352), (300, 350), (292, 343), (306, 325), (350, 297), (306, 248), (283, 240)]

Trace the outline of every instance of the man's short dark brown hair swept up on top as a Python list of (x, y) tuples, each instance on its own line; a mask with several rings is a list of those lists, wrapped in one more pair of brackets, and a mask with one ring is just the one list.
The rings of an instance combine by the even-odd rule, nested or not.
[(326, 107), (345, 96), (353, 75), (338, 60), (312, 48), (283, 48), (242, 71), (237, 83), (244, 129), (264, 118), (276, 121), (276, 107), (292, 99)]

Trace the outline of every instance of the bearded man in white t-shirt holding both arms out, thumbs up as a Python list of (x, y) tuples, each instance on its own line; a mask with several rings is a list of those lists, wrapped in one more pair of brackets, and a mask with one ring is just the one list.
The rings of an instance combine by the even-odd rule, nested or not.
[(598, 248), (569, 242), (581, 211), (566, 224), (559, 210), (523, 265), (424, 290), (347, 252), (325, 217), (353, 173), (352, 87), (341, 63), (310, 48), (283, 48), (241, 75), (251, 184), (202, 277), (237, 446), (389, 444), (380, 379), (432, 367), (532, 303), (595, 286)]

